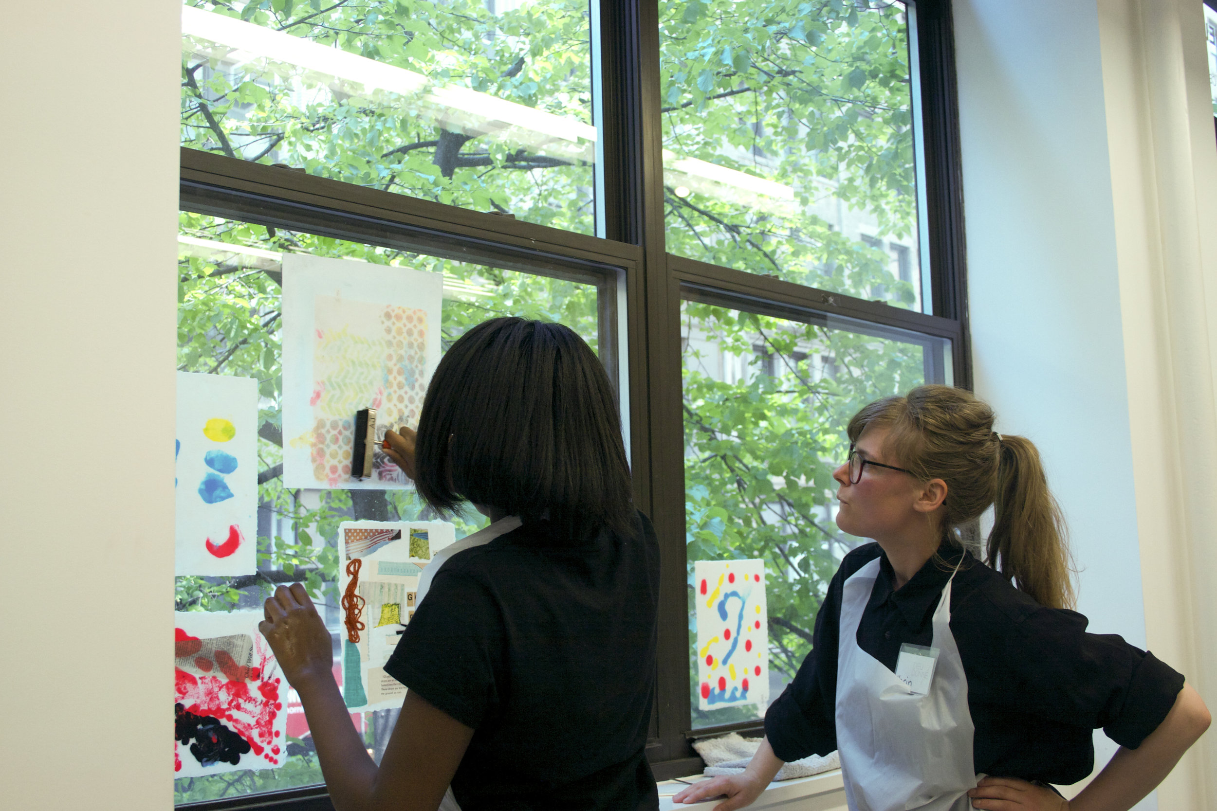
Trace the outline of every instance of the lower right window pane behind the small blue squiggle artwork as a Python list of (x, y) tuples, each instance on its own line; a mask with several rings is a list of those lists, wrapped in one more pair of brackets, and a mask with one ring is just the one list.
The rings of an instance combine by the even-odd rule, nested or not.
[(832, 471), (847, 454), (849, 418), (877, 398), (949, 382), (950, 353), (938, 338), (699, 302), (682, 308), (682, 350), (689, 678), (699, 728), (763, 717), (765, 706), (699, 709), (711, 689), (699, 682), (694, 563), (764, 562), (773, 702), (811, 651), (837, 564), (863, 542), (834, 523)]

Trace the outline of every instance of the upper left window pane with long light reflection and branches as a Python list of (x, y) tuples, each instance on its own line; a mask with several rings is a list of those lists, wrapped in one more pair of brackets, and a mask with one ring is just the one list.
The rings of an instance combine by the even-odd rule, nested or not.
[(187, 0), (181, 142), (591, 233), (587, 0)]

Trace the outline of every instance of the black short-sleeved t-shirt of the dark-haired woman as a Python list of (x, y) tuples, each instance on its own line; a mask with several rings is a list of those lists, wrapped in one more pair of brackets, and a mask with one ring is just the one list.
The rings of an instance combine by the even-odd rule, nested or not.
[(461, 811), (657, 809), (644, 748), (660, 554), (629, 537), (526, 524), (454, 554), (385, 670), (475, 730)]

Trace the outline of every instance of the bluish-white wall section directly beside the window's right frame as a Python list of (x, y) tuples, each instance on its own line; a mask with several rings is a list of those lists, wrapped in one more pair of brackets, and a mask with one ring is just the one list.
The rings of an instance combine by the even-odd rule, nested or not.
[[(1095, 6), (954, 13), (976, 393), (1043, 454), (1090, 630), (1144, 647)], [(1101, 733), (1095, 749), (1097, 764), (1115, 750)]]

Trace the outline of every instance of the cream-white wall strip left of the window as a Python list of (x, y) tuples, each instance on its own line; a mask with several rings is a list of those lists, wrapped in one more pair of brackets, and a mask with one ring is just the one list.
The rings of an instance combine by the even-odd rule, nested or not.
[(0, 787), (168, 809), (179, 6), (5, 6)]

